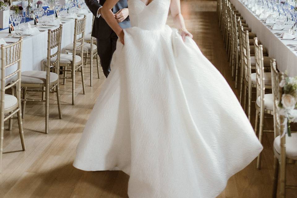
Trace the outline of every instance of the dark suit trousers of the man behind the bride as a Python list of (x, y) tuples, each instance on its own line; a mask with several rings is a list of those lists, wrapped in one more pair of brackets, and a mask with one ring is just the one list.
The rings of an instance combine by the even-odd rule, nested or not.
[(117, 46), (117, 40), (118, 36), (115, 32), (112, 32), (110, 37), (106, 39), (97, 38), (97, 51), (100, 57), (101, 67), (106, 78), (110, 72), (110, 62)]

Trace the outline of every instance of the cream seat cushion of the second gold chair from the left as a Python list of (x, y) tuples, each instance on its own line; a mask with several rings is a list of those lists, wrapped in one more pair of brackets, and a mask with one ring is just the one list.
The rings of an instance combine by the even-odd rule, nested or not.
[[(50, 72), (49, 83), (53, 83), (59, 79), (58, 74)], [(21, 75), (21, 83), (26, 84), (45, 84), (46, 71), (23, 71)]]

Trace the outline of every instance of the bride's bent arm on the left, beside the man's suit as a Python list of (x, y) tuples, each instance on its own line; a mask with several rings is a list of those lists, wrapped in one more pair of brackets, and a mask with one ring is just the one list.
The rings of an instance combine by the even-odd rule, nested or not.
[(101, 8), (102, 17), (111, 29), (118, 35), (122, 44), (124, 44), (124, 32), (117, 20), (114, 18), (114, 14), (111, 9), (118, 2), (118, 0), (106, 0)]

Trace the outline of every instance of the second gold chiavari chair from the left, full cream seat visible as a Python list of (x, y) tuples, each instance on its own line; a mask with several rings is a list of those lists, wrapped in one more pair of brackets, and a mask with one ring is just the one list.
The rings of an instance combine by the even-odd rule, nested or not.
[[(59, 68), (61, 54), (62, 25), (55, 30), (48, 30), (47, 58), (45, 71), (23, 71), (22, 83), (23, 90), (23, 118), (25, 114), (26, 102), (45, 103), (45, 133), (49, 133), (49, 93), (56, 92), (59, 118), (62, 119), (60, 87), (59, 87)], [(55, 53), (52, 53), (55, 51)], [(50, 72), (50, 71), (55, 72)], [(45, 89), (43, 89), (45, 87)], [(31, 88), (31, 89), (28, 89)], [(45, 93), (45, 100), (28, 99), (27, 92)]]

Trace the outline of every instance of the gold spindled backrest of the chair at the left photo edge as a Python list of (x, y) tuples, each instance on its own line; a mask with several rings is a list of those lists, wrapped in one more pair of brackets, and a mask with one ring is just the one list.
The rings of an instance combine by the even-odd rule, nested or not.
[[(16, 95), (18, 98), (18, 105), (21, 105), (20, 91), (21, 91), (21, 69), (22, 69), (22, 47), (23, 47), (23, 38), (21, 37), (19, 41), (10, 44), (10, 45), (1, 45), (1, 79), (0, 79), (0, 111), (1, 118), (4, 118), (4, 99), (5, 99), (5, 90), (16, 86)], [(10, 72), (10, 74), (5, 74), (5, 69), (8, 67), (15, 67), (16, 70)], [(17, 79), (9, 85), (6, 85), (5, 80), (17, 76)]]

